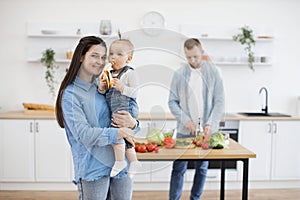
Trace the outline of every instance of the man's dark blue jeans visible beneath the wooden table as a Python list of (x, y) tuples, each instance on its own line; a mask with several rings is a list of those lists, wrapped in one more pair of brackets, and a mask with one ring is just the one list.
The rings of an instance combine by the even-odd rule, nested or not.
[[(184, 174), (186, 172), (188, 161), (175, 160), (173, 162), (173, 170), (170, 183), (170, 200), (180, 200), (182, 187), (184, 182)], [(208, 161), (195, 161), (195, 175), (191, 191), (190, 200), (199, 200), (207, 174)]]

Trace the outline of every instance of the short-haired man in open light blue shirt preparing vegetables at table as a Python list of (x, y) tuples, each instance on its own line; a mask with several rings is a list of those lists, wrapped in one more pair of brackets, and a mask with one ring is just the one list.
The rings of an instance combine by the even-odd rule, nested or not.
[[(173, 76), (169, 108), (177, 120), (177, 138), (195, 137), (200, 119), (204, 134), (219, 129), (224, 113), (224, 86), (219, 69), (211, 61), (203, 60), (203, 48), (198, 39), (188, 39), (184, 43), (184, 53), (188, 64), (178, 69)], [(173, 163), (170, 200), (179, 200), (182, 194), (187, 161)], [(208, 161), (195, 162), (195, 176), (191, 190), (191, 200), (199, 199), (204, 188)]]

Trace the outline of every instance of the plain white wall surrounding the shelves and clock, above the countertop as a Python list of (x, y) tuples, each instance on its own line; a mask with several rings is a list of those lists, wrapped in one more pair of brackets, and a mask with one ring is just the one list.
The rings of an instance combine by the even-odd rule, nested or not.
[[(179, 30), (180, 24), (190, 22), (236, 27), (248, 24), (274, 29), (272, 66), (256, 67), (255, 72), (246, 66), (221, 67), (226, 88), (226, 112), (259, 110), (258, 90), (266, 86), (270, 111), (294, 115), (296, 97), (300, 96), (299, 7), (297, 0), (1, 0), (0, 112), (20, 110), (22, 102), (53, 103), (44, 81), (44, 68), (26, 61), (27, 22), (73, 23), (111, 19), (118, 21), (123, 30), (131, 31), (139, 28), (140, 19), (147, 11), (157, 10), (166, 18), (167, 29), (174, 31)], [(161, 61), (163, 67), (172, 65), (172, 56), (163, 54), (156, 55), (155, 63)], [(144, 58), (137, 52), (135, 59), (134, 64), (137, 64)], [(60, 69), (60, 73), (63, 71)], [(167, 109), (166, 91), (162, 87), (152, 90), (151, 96), (142, 94), (141, 98), (141, 111), (149, 111), (157, 104)]]

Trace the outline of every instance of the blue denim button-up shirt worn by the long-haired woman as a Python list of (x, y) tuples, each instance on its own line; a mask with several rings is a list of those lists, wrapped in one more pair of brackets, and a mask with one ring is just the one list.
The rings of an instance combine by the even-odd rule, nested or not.
[[(77, 77), (64, 91), (62, 109), (74, 162), (74, 183), (109, 176), (115, 161), (111, 144), (120, 141), (118, 130), (107, 128), (111, 114), (96, 81), (88, 83)], [(126, 173), (124, 170), (116, 178)]]

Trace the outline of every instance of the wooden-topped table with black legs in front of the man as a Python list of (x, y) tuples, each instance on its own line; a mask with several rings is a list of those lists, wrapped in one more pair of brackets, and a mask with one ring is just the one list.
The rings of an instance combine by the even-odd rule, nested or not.
[(230, 139), (228, 148), (225, 149), (208, 149), (196, 147), (193, 149), (166, 149), (160, 148), (158, 153), (137, 153), (139, 160), (144, 161), (170, 161), (170, 160), (217, 160), (221, 162), (221, 188), (220, 199), (225, 197), (225, 163), (227, 161), (243, 162), (243, 187), (242, 200), (248, 199), (248, 167), (249, 158), (255, 158), (256, 155)]

